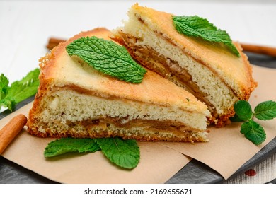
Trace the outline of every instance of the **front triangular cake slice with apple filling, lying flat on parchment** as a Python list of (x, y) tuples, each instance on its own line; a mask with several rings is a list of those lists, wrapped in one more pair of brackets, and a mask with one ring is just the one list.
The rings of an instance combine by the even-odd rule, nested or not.
[(65, 47), (77, 38), (110, 40), (109, 35), (105, 28), (82, 32), (40, 59), (28, 132), (57, 138), (207, 141), (207, 106), (183, 88), (153, 71), (139, 84), (120, 81), (67, 54)]

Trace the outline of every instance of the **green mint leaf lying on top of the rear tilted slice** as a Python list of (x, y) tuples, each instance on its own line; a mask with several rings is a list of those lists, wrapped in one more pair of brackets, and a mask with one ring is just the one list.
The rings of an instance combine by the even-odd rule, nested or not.
[(228, 33), (218, 29), (205, 18), (199, 16), (173, 16), (173, 25), (178, 30), (178, 33), (192, 37), (201, 37), (203, 40), (209, 42), (223, 43), (232, 53), (240, 57)]

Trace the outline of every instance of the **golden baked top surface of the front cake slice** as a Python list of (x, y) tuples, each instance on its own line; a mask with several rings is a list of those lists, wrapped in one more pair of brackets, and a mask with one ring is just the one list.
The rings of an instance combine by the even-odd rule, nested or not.
[(67, 42), (60, 43), (50, 54), (40, 59), (40, 88), (43, 95), (55, 88), (72, 88), (81, 93), (93, 93), (104, 98), (122, 98), (141, 103), (151, 103), (167, 107), (176, 107), (190, 112), (202, 112), (209, 115), (207, 106), (170, 81), (153, 71), (147, 71), (142, 83), (134, 84), (100, 74), (91, 66), (81, 65), (67, 54), (66, 46), (79, 37), (94, 35), (111, 40), (110, 31), (96, 28), (82, 32)]

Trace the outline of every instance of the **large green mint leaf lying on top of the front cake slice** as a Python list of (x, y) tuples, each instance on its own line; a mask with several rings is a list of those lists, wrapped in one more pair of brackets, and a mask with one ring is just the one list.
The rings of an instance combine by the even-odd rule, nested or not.
[(77, 56), (94, 69), (122, 81), (141, 83), (146, 69), (137, 64), (125, 47), (98, 37), (81, 37), (66, 47), (69, 56)]

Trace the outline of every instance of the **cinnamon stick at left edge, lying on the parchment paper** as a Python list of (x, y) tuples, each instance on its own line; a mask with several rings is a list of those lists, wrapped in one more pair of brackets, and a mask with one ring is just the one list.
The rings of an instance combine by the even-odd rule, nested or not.
[(16, 135), (21, 132), (26, 123), (27, 117), (23, 114), (19, 114), (13, 117), (13, 119), (0, 130), (0, 154), (6, 149)]

